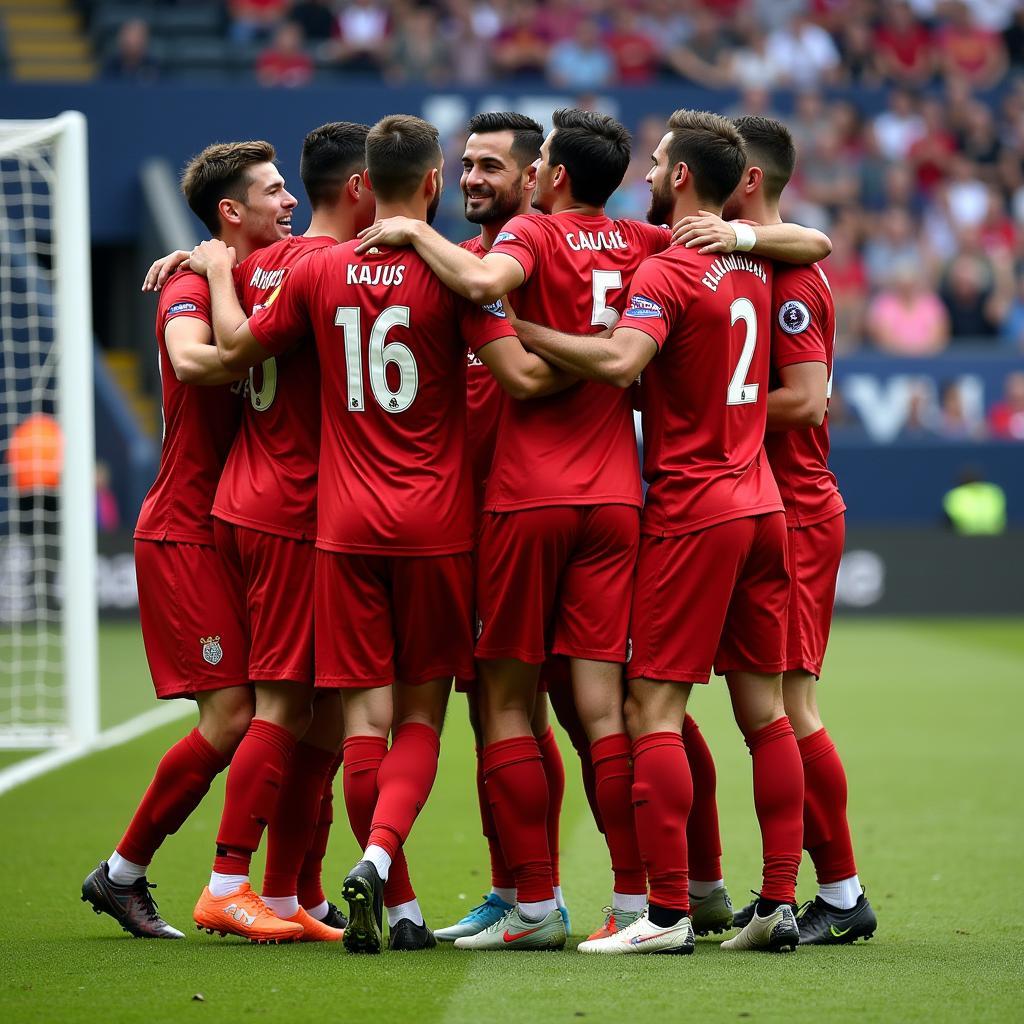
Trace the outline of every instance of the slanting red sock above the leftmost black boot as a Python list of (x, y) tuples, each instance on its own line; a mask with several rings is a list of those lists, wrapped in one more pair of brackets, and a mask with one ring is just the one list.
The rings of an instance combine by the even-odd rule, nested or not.
[(199, 729), (179, 739), (161, 759), (118, 843), (118, 853), (134, 864), (148, 864), (161, 843), (173, 836), (210, 790), (210, 783), (227, 767)]

